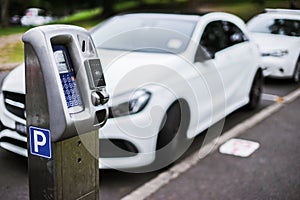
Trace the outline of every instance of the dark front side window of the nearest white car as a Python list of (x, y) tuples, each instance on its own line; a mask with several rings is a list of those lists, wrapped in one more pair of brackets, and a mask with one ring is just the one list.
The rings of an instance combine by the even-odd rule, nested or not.
[(226, 35), (222, 28), (222, 21), (210, 22), (205, 27), (200, 46), (211, 58), (214, 58), (216, 52), (226, 48)]

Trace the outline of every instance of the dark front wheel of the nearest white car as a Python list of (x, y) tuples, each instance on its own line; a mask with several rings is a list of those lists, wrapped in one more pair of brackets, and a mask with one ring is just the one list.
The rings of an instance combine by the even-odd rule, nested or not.
[(167, 111), (157, 139), (155, 168), (162, 169), (176, 161), (191, 144), (187, 139), (190, 112), (185, 101), (175, 102)]

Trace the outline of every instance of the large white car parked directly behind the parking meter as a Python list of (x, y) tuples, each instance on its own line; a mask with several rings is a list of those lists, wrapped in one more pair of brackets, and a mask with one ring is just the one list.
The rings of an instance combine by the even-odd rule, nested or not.
[[(91, 34), (111, 96), (100, 168), (165, 167), (203, 130), (259, 103), (260, 54), (236, 16), (126, 14)], [(24, 93), (20, 66), (3, 82), (0, 146), (26, 156)]]

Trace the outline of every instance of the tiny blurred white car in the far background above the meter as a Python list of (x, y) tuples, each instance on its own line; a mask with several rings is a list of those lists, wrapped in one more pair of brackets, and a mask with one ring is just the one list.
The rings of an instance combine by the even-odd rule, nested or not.
[(53, 18), (40, 8), (28, 8), (25, 15), (21, 17), (23, 26), (40, 26), (51, 21), (53, 21)]

